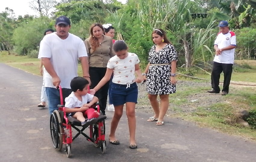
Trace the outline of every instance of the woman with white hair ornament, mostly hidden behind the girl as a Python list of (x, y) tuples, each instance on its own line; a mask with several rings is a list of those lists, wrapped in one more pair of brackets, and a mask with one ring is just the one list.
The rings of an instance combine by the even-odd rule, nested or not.
[[(102, 26), (105, 30), (105, 35), (111, 37), (112, 41), (113, 41), (113, 44), (114, 44), (115, 41), (116, 41), (116, 40), (114, 40), (115, 29), (112, 26), (112, 24), (103, 24)], [(108, 110), (109, 111), (115, 111), (114, 105), (113, 105), (113, 99), (112, 99), (112, 96), (111, 96), (111, 86), (112, 86), (112, 83), (113, 83), (112, 79), (113, 79), (113, 74), (111, 75), (111, 78), (109, 80), (109, 88), (108, 88), (108, 98), (109, 98)]]

